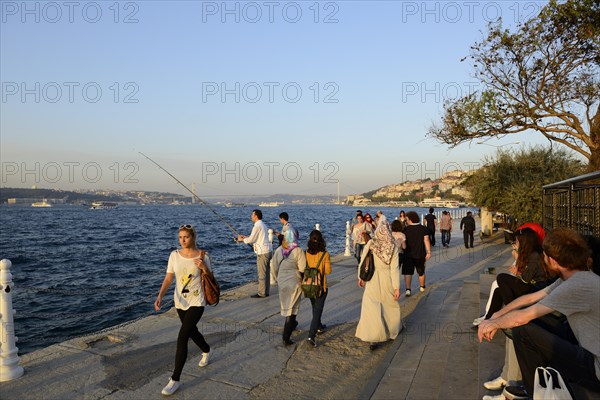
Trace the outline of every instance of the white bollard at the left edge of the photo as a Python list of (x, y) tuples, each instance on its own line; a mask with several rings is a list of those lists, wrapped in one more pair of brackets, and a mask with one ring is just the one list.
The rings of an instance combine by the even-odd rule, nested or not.
[(0, 261), (0, 382), (17, 379), (23, 375), (23, 367), (19, 365), (19, 349), (15, 345), (18, 338), (15, 336), (15, 325), (12, 309), (12, 274), (10, 260)]

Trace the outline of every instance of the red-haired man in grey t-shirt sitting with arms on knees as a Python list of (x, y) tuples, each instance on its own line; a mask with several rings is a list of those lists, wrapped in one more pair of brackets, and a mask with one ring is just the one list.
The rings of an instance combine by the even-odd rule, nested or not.
[[(556, 369), (567, 384), (600, 392), (600, 276), (589, 271), (590, 250), (579, 234), (562, 228), (548, 234), (543, 247), (546, 266), (559, 279), (483, 321), (479, 340), (491, 340), (498, 329), (512, 328), (525, 387), (505, 388), (508, 398), (533, 395), (539, 366)], [(572, 332), (545, 323), (555, 311), (567, 317)]]

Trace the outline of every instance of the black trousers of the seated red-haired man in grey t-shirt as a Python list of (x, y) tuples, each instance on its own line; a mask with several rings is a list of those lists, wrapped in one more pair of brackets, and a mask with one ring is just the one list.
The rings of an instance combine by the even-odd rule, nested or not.
[(600, 393), (594, 355), (581, 347), (568, 323), (549, 314), (512, 329), (517, 360), (527, 393), (533, 395), (535, 369), (549, 366), (563, 379)]

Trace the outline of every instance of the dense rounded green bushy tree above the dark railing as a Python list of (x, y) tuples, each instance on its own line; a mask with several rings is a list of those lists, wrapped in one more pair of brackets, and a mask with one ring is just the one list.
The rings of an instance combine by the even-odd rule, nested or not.
[(498, 150), (495, 159), (464, 182), (471, 201), (510, 214), (520, 222), (542, 220), (542, 186), (580, 175), (584, 167), (570, 153), (542, 146)]

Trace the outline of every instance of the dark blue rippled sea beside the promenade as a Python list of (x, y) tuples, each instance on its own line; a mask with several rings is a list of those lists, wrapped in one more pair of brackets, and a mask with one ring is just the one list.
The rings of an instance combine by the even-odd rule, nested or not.
[[(213, 206), (242, 234), (252, 230), (254, 208)], [(328, 250), (337, 254), (344, 251), (345, 221), (355, 208), (280, 205), (262, 210), (263, 220), (274, 230), (281, 228), (279, 213), (287, 211), (300, 231), (302, 247), (320, 224)], [(373, 215), (376, 211), (363, 210)], [(390, 219), (399, 211), (384, 209)], [(107, 210), (0, 206), (0, 259), (13, 265), (19, 353), (154, 314), (153, 303), (169, 253), (179, 245), (182, 224), (196, 227), (198, 246), (210, 252), (222, 289), (256, 279), (251, 248), (234, 243), (233, 232), (201, 205), (122, 205)], [(169, 293), (163, 311), (172, 305), (172, 289)]]

